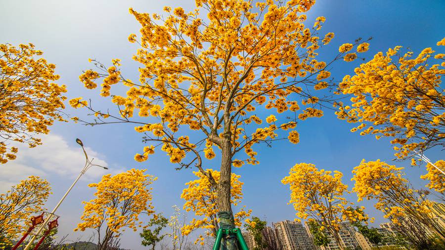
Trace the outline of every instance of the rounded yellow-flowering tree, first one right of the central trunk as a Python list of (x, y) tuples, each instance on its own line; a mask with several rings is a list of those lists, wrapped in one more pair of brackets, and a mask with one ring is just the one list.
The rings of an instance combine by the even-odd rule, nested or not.
[[(367, 221), (362, 212), (350, 209), (343, 195), (350, 193), (348, 185), (342, 183), (343, 174), (339, 171), (318, 170), (315, 165), (299, 163), (292, 167), (289, 176), (281, 182), (289, 184), (290, 203), (297, 211), (297, 217), (317, 222), (319, 230), (328, 231), (341, 250), (345, 244), (340, 238), (340, 223), (344, 220)], [(298, 219), (300, 220), (300, 219)]]

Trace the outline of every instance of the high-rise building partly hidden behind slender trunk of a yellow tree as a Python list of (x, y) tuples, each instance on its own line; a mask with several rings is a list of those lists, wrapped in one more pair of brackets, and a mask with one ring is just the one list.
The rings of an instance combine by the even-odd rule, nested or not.
[[(308, 224), (305, 222), (305, 227), (307, 232), (310, 234), (312, 239), (311, 231), (309, 230)], [(329, 243), (327, 246), (320, 246), (321, 250), (339, 250), (337, 243), (334, 240), (334, 236), (327, 230), (324, 231), (324, 234), (328, 237)], [(341, 241), (343, 242), (343, 246), (347, 249), (357, 249), (360, 247), (356, 239), (356, 230), (355, 228), (348, 222), (340, 223), (339, 236)]]

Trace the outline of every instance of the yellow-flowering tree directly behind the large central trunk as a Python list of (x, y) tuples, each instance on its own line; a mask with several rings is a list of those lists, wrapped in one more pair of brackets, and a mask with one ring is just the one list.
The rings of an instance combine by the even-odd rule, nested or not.
[[(206, 172), (210, 172), (218, 183), (220, 180), (220, 172), (213, 169), (206, 169)], [(188, 225), (182, 227), (182, 234), (188, 235), (192, 231), (202, 228), (206, 229), (206, 237), (216, 237), (216, 233), (219, 229), (218, 207), (217, 207), (217, 191), (210, 183), (209, 179), (201, 172), (193, 172), (198, 179), (185, 183), (188, 187), (182, 190), (181, 198), (186, 202), (183, 209), (186, 211), (192, 210), (196, 217)], [(237, 206), (242, 198), (242, 186), (243, 182), (239, 181), (241, 176), (232, 173), (230, 178), (230, 203), (233, 206)], [(241, 220), (250, 216), (252, 210), (244, 210), (241, 208), (239, 212), (234, 214), (234, 222), (236, 226), (241, 226)], [(204, 237), (200, 235), (195, 244), (201, 241), (204, 244)]]

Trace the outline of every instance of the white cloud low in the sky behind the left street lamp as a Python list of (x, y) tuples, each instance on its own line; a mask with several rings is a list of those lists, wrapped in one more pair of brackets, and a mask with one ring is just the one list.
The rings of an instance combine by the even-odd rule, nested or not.
[[(74, 179), (79, 175), (85, 166), (85, 156), (80, 146), (69, 146), (60, 135), (49, 134), (41, 138), (43, 145), (36, 148), (28, 148), (24, 144), (16, 145), (19, 147), (17, 159), (0, 166), (0, 191), (9, 190), (29, 175), (47, 177), (55, 174), (67, 179)], [(88, 147), (85, 150), (89, 159), (94, 158), (93, 164), (108, 167), (107, 162), (103, 160), (105, 157)], [(110, 171), (93, 166), (82, 179), (97, 179), (103, 174), (115, 174), (120, 171), (122, 169)]]

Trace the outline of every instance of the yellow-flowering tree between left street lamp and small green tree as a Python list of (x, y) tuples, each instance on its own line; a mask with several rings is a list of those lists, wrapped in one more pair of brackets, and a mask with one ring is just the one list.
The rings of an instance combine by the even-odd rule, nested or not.
[(83, 202), (83, 222), (74, 230), (94, 229), (99, 249), (107, 249), (113, 238), (119, 237), (125, 228), (136, 231), (141, 227), (139, 215), (154, 213), (152, 188), (149, 186), (156, 180), (144, 172), (145, 169), (133, 168), (114, 176), (104, 175), (100, 182), (89, 184), (89, 187), (96, 188), (96, 198)]

